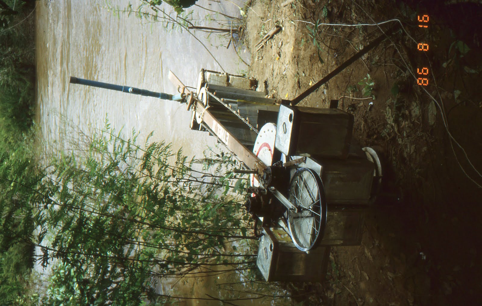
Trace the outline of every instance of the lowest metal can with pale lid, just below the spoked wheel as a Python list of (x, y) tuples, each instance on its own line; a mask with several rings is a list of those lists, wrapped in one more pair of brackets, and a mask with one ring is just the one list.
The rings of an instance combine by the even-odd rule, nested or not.
[(295, 247), (281, 229), (263, 229), (256, 265), (267, 281), (322, 281), (330, 257), (329, 246), (307, 254)]

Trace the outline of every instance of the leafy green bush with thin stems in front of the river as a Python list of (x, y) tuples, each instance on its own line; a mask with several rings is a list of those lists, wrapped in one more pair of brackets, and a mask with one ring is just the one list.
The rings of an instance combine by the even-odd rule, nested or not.
[[(227, 172), (236, 166), (229, 155), (187, 159), (169, 144), (136, 138), (107, 124), (81, 135), (72, 152), (37, 163), (26, 149), (1, 155), (2, 248), (36, 246), (40, 263), (53, 265), (45, 290), (25, 288), (45, 292), (37, 297), (43, 305), (167, 301), (155, 292), (161, 278), (254, 268), (256, 238), (231, 192), (243, 192), (247, 180)], [(6, 259), (2, 284), (18, 270)], [(13, 285), (2, 290), (27, 283)], [(22, 295), (1, 296), (1, 305), (16, 305)]]

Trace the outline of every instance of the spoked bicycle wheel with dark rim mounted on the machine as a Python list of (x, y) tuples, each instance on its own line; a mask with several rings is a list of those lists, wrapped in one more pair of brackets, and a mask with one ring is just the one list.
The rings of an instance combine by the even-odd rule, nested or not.
[(308, 251), (323, 237), (326, 226), (326, 200), (321, 178), (302, 167), (290, 183), (288, 200), (297, 211), (287, 210), (291, 238), (301, 251)]

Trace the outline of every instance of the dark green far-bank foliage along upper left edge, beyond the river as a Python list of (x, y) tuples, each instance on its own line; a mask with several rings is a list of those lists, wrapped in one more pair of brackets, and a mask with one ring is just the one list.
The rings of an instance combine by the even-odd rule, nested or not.
[[(35, 102), (33, 17), (30, 15), (25, 19), (32, 12), (33, 6), (24, 1), (16, 2), (16, 7), (13, 6), (13, 0), (1, 1), (0, 5), (2, 13), (15, 12), (2, 15), (0, 25), (1, 151), (12, 150), (12, 146), (23, 139), (22, 134), (28, 132)], [(22, 20), (24, 21), (21, 22)]]

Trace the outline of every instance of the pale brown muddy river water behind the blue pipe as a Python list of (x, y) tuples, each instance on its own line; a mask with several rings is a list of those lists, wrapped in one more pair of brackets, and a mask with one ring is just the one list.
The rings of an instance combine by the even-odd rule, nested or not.
[[(129, 1), (112, 2), (126, 8)], [(239, 14), (229, 1), (220, 4), (200, 0), (198, 3), (223, 13)], [(202, 19), (199, 15), (201, 13), (194, 14), (195, 18)], [(42, 1), (37, 5), (36, 18), (36, 122), (48, 147), (68, 149), (66, 137), (80, 130), (89, 133), (94, 128), (104, 127), (106, 118), (116, 129), (138, 130), (141, 141), (154, 131), (153, 140), (173, 142), (174, 147), (182, 146), (189, 154), (200, 154), (207, 145), (215, 144), (214, 138), (207, 133), (189, 129), (190, 114), (185, 104), (69, 84), (69, 77), (77, 76), (174, 93), (175, 88), (167, 79), (171, 69), (186, 85), (195, 86), (201, 68), (217, 71), (221, 68), (187, 33), (169, 32), (160, 23), (148, 23), (134, 14), (116, 16), (106, 8), (104, 0)], [(203, 41), (227, 72), (236, 73), (245, 68), (239, 64), (232, 47), (216, 49), (207, 40)], [(248, 58), (248, 54), (244, 57)], [(187, 286), (174, 289), (167, 282), (159, 290), (180, 296), (206, 297), (208, 293), (223, 298), (230, 294), (217, 292), (214, 283), (226, 281), (221, 276), (189, 281)], [(230, 281), (233, 280), (230, 278)], [(237, 287), (237, 290), (243, 289)], [(198, 302), (183, 303), (214, 305), (213, 301)], [(259, 302), (235, 304), (260, 305)]]

